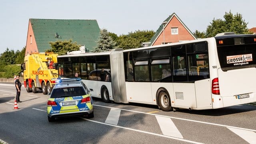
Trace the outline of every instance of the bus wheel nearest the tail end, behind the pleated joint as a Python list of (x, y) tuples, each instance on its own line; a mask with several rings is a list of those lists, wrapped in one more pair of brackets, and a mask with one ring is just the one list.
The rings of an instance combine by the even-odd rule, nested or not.
[(160, 91), (158, 94), (158, 105), (162, 111), (168, 112), (172, 110), (171, 100), (168, 92)]

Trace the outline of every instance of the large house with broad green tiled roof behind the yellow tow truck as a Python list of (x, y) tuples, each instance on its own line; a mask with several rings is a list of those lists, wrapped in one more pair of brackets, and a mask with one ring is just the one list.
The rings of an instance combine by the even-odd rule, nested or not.
[(90, 52), (97, 46), (100, 28), (97, 20), (29, 19), (26, 54), (45, 52), (49, 42), (72, 40)]

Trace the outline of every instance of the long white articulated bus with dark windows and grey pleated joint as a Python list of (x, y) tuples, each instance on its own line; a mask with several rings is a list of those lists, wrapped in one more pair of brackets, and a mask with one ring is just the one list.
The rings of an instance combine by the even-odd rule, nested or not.
[(256, 35), (223, 35), (121, 51), (58, 56), (104, 102), (203, 110), (256, 102)]

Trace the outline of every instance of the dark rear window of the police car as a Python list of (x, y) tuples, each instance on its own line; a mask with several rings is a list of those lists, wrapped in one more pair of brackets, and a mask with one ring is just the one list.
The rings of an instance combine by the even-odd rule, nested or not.
[(84, 88), (82, 86), (78, 86), (53, 89), (50, 98), (64, 98), (83, 95), (86, 95)]

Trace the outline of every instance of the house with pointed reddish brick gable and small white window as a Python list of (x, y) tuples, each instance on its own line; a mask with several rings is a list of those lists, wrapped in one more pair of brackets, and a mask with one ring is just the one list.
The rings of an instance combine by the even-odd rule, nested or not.
[(150, 42), (144, 42), (142, 44), (144, 46), (155, 46), (187, 40), (196, 40), (196, 37), (180, 18), (173, 13), (162, 22)]

